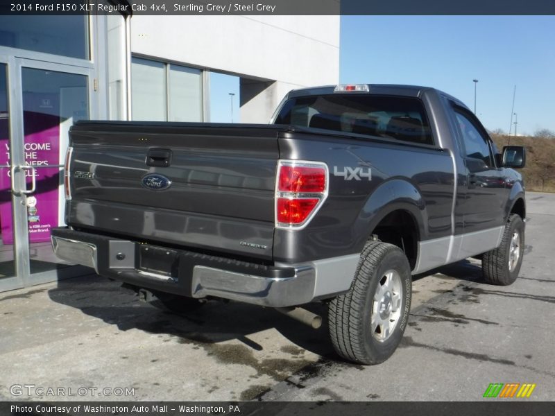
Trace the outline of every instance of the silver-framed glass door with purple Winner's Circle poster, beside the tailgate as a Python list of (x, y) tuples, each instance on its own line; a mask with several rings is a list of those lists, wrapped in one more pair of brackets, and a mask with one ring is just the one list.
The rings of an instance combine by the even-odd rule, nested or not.
[[(83, 272), (56, 258), (50, 231), (64, 225), (68, 132), (75, 121), (91, 116), (92, 69), (19, 58), (13, 62), (10, 83), (18, 87), (10, 100), (12, 221), (3, 220), (8, 218), (7, 206), (0, 207), (0, 216), (2, 239), (11, 233), (19, 254), (17, 275), (24, 286), (31, 286)], [(7, 186), (4, 176), (0, 184)]]

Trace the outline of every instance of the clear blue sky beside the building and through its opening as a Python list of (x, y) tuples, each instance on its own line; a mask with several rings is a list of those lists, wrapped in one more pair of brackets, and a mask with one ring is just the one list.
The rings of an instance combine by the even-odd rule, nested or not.
[[(555, 131), (555, 16), (342, 16), (339, 83), (435, 87), (470, 110), (476, 87), (488, 130)], [(228, 92), (239, 121), (239, 78), (210, 89), (212, 121), (231, 121)]]

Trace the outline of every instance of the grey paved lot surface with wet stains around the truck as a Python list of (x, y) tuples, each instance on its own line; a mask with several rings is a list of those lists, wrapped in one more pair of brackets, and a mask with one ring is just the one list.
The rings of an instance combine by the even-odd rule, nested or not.
[(370, 367), (334, 354), (326, 319), (236, 302), (177, 315), (96, 275), (0, 293), (0, 399), (474, 401), (535, 383), (527, 400), (553, 400), (554, 230), (555, 195), (529, 193), (515, 284), (485, 284), (476, 260), (416, 277), (402, 345)]

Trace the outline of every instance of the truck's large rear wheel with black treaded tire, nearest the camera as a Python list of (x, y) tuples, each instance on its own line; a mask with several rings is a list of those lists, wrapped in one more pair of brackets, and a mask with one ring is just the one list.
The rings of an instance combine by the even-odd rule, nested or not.
[[(398, 277), (395, 277), (395, 273)], [(395, 281), (398, 284), (393, 284)], [(389, 291), (391, 302), (387, 302), (384, 293), (386, 284), (393, 284)], [(380, 293), (384, 293), (383, 297), (381, 294), (378, 296), (378, 285)], [(346, 360), (360, 364), (386, 361), (395, 352), (407, 327), (411, 310), (411, 286), (411, 268), (402, 250), (396, 245), (368, 241), (361, 253), (350, 290), (330, 302), (330, 338), (336, 352)], [(381, 302), (375, 301), (377, 296)], [(400, 300), (397, 300), (398, 296)], [(395, 302), (398, 305), (393, 309)], [(384, 315), (377, 313), (379, 306), (384, 307)], [(375, 313), (379, 320), (374, 324), (384, 324), (377, 324), (373, 330), (371, 325)], [(390, 320), (392, 318), (395, 320)], [(389, 335), (387, 330), (382, 330), (385, 325), (393, 325)]]

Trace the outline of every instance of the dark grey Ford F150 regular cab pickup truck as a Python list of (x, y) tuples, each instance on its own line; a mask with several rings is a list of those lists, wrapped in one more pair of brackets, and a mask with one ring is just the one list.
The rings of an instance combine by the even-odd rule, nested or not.
[(486, 282), (518, 277), (524, 162), (428, 87), (299, 89), (269, 125), (79, 121), (53, 250), (174, 311), (235, 300), (317, 327), (300, 306), (325, 302), (336, 352), (375, 364), (411, 275), (479, 257)]

